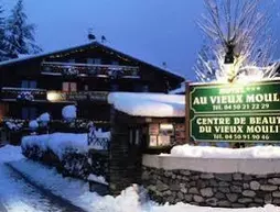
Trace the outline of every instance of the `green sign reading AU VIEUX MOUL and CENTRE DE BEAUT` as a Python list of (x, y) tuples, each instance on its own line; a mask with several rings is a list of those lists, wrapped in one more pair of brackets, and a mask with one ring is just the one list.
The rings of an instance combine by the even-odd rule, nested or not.
[(280, 141), (280, 81), (191, 85), (191, 140)]

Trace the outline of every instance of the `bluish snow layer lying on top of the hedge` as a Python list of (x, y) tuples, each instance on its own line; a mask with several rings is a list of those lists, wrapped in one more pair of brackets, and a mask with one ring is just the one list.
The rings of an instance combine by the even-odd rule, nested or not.
[(42, 150), (51, 149), (60, 158), (72, 149), (76, 153), (87, 153), (87, 134), (54, 133), (44, 135), (30, 135), (22, 138), (24, 149), (39, 146)]

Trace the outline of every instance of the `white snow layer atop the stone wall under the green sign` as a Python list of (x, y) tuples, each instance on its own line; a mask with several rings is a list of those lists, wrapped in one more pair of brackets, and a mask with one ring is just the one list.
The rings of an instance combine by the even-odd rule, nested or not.
[[(164, 155), (164, 154), (163, 154)], [(212, 146), (174, 146), (171, 156), (198, 158), (280, 158), (280, 147), (255, 146), (248, 148), (222, 148)]]

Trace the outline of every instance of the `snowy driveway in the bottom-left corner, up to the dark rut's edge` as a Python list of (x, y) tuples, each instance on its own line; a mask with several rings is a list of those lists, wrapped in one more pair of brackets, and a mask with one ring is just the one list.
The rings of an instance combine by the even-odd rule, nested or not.
[(40, 190), (4, 164), (0, 164), (0, 202), (1, 212), (80, 211)]

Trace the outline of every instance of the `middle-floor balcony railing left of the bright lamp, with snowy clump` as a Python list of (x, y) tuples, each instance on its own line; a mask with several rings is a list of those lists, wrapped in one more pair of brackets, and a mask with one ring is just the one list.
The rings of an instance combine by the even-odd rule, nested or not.
[(46, 90), (33, 88), (12, 88), (1, 89), (1, 100), (3, 101), (46, 101)]

